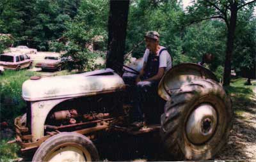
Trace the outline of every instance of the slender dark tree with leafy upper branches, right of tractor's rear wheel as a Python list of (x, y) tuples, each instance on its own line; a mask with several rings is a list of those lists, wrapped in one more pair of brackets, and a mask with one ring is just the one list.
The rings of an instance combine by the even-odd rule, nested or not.
[(190, 18), (194, 19), (190, 21), (190, 24), (211, 18), (218, 18), (220, 20), (224, 20), (227, 26), (227, 46), (225, 55), (225, 69), (223, 74), (223, 85), (230, 84), (231, 59), (232, 52), (234, 50), (237, 12), (239, 10), (243, 10), (244, 8), (246, 8), (246, 6), (255, 5), (255, 2), (255, 0), (198, 0), (193, 6), (189, 7), (189, 16)]

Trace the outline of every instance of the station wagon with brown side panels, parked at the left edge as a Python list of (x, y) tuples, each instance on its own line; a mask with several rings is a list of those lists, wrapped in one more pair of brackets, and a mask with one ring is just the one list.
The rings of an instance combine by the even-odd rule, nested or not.
[(0, 66), (4, 69), (17, 70), (31, 68), (33, 61), (26, 54), (7, 53), (0, 55)]

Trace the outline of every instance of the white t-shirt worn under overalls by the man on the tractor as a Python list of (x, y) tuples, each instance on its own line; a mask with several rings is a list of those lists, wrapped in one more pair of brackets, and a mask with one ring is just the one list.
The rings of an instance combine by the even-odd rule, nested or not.
[[(159, 55), (159, 52), (163, 48), (165, 48), (165, 47), (163, 47), (163, 46), (160, 47), (160, 49), (157, 52), (157, 56)], [(147, 63), (149, 54), (150, 54), (150, 50), (147, 48), (143, 55), (143, 63), (144, 62)], [(167, 50), (163, 50), (161, 52), (161, 55), (159, 57), (159, 68), (165, 68), (164, 72), (166, 72), (166, 71), (170, 70), (170, 68), (172, 68), (172, 57), (170, 56), (170, 54), (168, 53)]]

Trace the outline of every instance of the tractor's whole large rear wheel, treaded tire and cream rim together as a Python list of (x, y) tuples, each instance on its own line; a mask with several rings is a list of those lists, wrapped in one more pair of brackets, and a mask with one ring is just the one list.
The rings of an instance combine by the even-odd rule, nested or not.
[(161, 115), (161, 137), (175, 159), (211, 159), (232, 128), (231, 100), (209, 79), (192, 80), (171, 90)]

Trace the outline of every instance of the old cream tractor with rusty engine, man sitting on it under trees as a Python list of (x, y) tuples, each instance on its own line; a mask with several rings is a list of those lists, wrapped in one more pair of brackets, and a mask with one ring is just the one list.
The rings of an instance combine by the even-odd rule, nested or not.
[[(140, 68), (138, 59), (124, 68), (124, 76)], [(165, 104), (151, 106), (163, 110), (154, 114), (159, 122), (138, 130), (129, 127), (126, 87), (111, 69), (31, 77), (22, 85), (27, 113), (15, 119), (16, 142), (22, 152), (33, 152), (33, 161), (99, 161), (92, 141), (113, 131), (159, 131), (163, 147), (177, 159), (211, 159), (227, 141), (231, 101), (203, 66), (185, 63), (169, 70), (158, 87)]]

